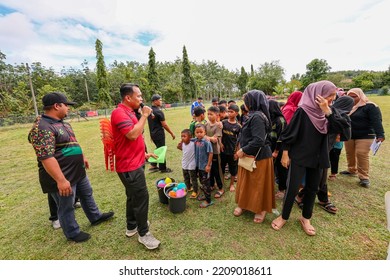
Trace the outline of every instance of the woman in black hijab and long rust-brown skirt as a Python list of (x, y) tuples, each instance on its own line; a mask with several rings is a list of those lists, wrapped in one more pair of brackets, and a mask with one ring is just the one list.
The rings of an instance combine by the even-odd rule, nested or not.
[(238, 138), (238, 158), (256, 155), (256, 168), (251, 172), (238, 167), (236, 203), (234, 215), (245, 210), (255, 213), (253, 221), (262, 223), (267, 213), (275, 208), (274, 169), (271, 152), (271, 120), (268, 100), (264, 92), (251, 90), (244, 95), (244, 104), (249, 118)]

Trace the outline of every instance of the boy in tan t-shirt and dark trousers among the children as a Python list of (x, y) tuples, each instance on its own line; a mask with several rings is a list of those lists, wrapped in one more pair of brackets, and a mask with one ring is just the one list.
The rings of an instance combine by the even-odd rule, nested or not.
[(216, 106), (211, 106), (207, 109), (207, 118), (208, 122), (206, 124), (206, 139), (209, 140), (213, 146), (213, 163), (211, 164), (210, 171), (210, 185), (211, 187), (217, 183), (218, 191), (215, 194), (215, 198), (220, 198), (224, 194), (223, 189), (223, 173), (221, 170), (221, 158), (219, 154), (221, 153), (221, 137), (222, 137), (222, 127), (220, 123), (217, 122), (219, 114), (219, 108)]

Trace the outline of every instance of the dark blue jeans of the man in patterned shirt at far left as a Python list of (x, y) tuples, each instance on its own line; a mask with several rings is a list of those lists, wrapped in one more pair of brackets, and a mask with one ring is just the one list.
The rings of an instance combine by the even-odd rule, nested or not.
[(66, 238), (76, 237), (80, 233), (80, 227), (74, 215), (76, 195), (80, 198), (81, 207), (91, 223), (102, 216), (92, 196), (92, 187), (88, 176), (72, 185), (72, 195), (70, 196), (60, 196), (58, 192), (50, 194), (57, 203), (58, 219)]

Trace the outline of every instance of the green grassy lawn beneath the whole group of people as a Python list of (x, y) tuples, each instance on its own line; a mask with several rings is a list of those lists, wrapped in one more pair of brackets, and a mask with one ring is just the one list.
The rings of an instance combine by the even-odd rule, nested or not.
[[(390, 131), (390, 98), (371, 97), (380, 105), (385, 131)], [(177, 138), (167, 135), (170, 177), (182, 181), (181, 152), (176, 149), (180, 131), (190, 123), (189, 108), (165, 111), (166, 119)], [(81, 209), (76, 218), (82, 230), (92, 238), (81, 244), (66, 241), (61, 230), (53, 230), (48, 220), (47, 196), (38, 182), (34, 151), (27, 141), (31, 125), (0, 128), (0, 259), (2, 260), (380, 260), (387, 255), (389, 232), (386, 229), (384, 194), (390, 190), (390, 145), (387, 140), (376, 156), (371, 157), (371, 187), (364, 189), (358, 179), (341, 177), (329, 182), (331, 201), (339, 208), (331, 215), (317, 205), (312, 223), (315, 237), (301, 229), (299, 208), (294, 206), (291, 219), (276, 232), (275, 218), (268, 214), (263, 224), (253, 223), (253, 214), (233, 216), (234, 193), (226, 192), (215, 205), (200, 209), (187, 199), (184, 213), (172, 214), (158, 199), (155, 182), (161, 174), (147, 174), (150, 194), (151, 231), (162, 241), (160, 249), (146, 250), (136, 237), (125, 236), (125, 192), (116, 173), (106, 171), (99, 121), (71, 121), (84, 154), (89, 159), (94, 196), (102, 211), (115, 211), (115, 218), (91, 227)], [(148, 129), (148, 149), (153, 150)], [(340, 159), (344, 170), (345, 152)], [(227, 185), (227, 184), (226, 184)], [(276, 187), (275, 187), (276, 189)], [(281, 210), (281, 201), (277, 208)]]

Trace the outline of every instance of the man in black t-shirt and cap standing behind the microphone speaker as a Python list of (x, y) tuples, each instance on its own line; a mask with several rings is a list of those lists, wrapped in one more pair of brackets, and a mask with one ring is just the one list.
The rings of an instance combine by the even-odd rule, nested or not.
[[(169, 128), (167, 122), (165, 121), (164, 112), (161, 110), (162, 98), (158, 94), (152, 96), (152, 110), (153, 114), (150, 114), (148, 117), (149, 132), (150, 137), (152, 138), (153, 143), (156, 145), (156, 148), (165, 146), (165, 132), (166, 130), (171, 134), (172, 139), (175, 140), (175, 134)], [(157, 167), (157, 163), (152, 163), (149, 171), (156, 172), (160, 171), (162, 173), (172, 172), (170, 168), (167, 168), (166, 161), (160, 163)]]

